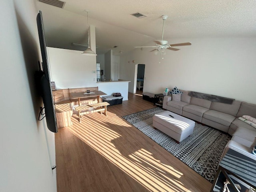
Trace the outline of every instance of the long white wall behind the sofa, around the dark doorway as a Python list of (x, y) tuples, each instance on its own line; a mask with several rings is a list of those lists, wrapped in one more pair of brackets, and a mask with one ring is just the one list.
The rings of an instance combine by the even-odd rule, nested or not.
[(179, 51), (166, 50), (164, 59), (155, 56), (150, 48), (134, 49), (121, 57), (120, 78), (131, 81), (129, 92), (133, 92), (135, 64), (143, 63), (144, 92), (162, 93), (166, 87), (177, 86), (256, 103), (256, 38), (190, 38), (169, 42), (192, 45), (181, 46)]

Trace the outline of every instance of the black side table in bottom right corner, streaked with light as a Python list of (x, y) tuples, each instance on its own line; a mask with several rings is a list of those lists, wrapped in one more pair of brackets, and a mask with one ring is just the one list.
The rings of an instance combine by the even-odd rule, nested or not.
[[(222, 192), (226, 180), (230, 182), (230, 192), (248, 192), (248, 186), (256, 188), (256, 161), (229, 149), (220, 161), (211, 192)], [(239, 184), (241, 190), (234, 184)]]

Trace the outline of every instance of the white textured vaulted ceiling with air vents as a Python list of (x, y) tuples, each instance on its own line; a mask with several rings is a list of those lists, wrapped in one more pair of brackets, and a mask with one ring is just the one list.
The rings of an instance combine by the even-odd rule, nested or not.
[[(84, 10), (96, 28), (97, 54), (110, 49), (119, 54), (160, 40), (162, 15), (168, 15), (164, 40), (169, 43), (174, 38), (256, 37), (256, 0), (64, 0), (63, 9), (35, 1), (48, 46), (58, 48), (84, 50), (71, 45), (87, 43)], [(146, 17), (130, 15), (136, 12)]]

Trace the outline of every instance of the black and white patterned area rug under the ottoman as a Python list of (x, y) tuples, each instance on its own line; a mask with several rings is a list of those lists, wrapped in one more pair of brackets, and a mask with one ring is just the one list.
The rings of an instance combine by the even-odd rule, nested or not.
[(152, 108), (123, 118), (208, 181), (213, 182), (222, 152), (231, 139), (230, 136), (196, 123), (193, 134), (177, 144), (170, 136), (155, 130), (152, 126), (154, 114), (163, 111), (165, 110), (161, 108)]

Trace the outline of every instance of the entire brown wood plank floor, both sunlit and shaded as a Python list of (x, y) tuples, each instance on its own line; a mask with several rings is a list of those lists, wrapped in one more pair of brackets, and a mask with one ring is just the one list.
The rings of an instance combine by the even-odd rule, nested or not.
[(208, 192), (211, 183), (122, 116), (153, 108), (140, 94), (100, 113), (72, 116), (55, 136), (58, 192)]

